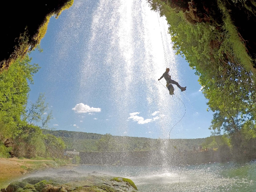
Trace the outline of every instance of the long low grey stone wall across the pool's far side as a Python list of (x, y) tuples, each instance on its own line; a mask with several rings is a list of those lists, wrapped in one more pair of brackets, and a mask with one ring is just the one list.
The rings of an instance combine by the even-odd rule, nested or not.
[(81, 164), (100, 165), (172, 165), (203, 164), (209, 162), (228, 162), (229, 152), (166, 152), (166, 151), (117, 151), (117, 152), (80, 152)]

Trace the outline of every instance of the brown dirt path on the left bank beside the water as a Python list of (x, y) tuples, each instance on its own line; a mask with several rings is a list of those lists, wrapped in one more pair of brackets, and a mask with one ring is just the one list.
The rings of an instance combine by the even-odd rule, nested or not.
[(32, 160), (18, 158), (0, 158), (0, 189), (7, 187), (9, 183), (22, 177), (24, 174), (38, 169), (50, 167), (53, 160)]

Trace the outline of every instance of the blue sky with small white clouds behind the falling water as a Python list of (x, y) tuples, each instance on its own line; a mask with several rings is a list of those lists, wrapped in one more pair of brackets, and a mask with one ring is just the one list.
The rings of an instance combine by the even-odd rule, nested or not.
[(213, 113), (206, 110), (195, 71), (175, 55), (170, 38), (165, 18), (144, 1), (75, 0), (50, 19), (44, 51), (30, 54), (42, 68), (29, 100), (45, 92), (54, 117), (49, 127), (57, 130), (168, 138), (185, 112), (162, 86), (165, 80), (157, 80), (169, 67), (172, 79), (187, 86), (180, 92), (174, 85), (186, 114), (171, 138), (208, 137)]

